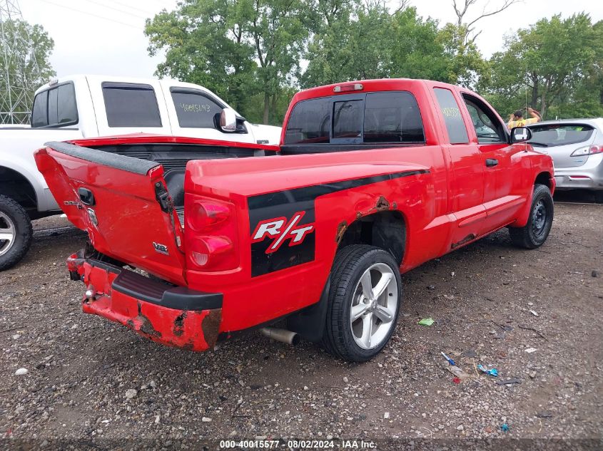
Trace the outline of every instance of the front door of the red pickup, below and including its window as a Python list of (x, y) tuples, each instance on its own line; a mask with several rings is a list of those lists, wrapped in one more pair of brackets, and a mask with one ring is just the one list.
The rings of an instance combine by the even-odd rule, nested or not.
[[(517, 180), (510, 174), (520, 174), (512, 168), (514, 147), (507, 142), (506, 125), (497, 114), (480, 98), (470, 93), (462, 93), (472, 120), (472, 140), (477, 143), (485, 171), (484, 207), (487, 220), (486, 231), (502, 227), (512, 221), (517, 210), (522, 207), (525, 197), (513, 193)], [(519, 160), (517, 163), (519, 164)]]

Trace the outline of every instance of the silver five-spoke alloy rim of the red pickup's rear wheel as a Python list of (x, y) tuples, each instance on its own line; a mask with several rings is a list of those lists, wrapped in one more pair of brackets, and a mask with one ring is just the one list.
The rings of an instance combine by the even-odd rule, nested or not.
[(360, 277), (350, 309), (352, 336), (360, 348), (376, 348), (389, 336), (399, 299), (394, 273), (387, 264), (375, 263)]

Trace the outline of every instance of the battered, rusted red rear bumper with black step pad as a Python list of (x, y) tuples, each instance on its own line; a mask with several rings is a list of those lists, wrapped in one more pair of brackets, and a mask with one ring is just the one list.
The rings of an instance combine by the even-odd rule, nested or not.
[(71, 279), (86, 284), (84, 313), (103, 316), (157, 343), (206, 351), (218, 339), (222, 294), (203, 293), (149, 279), (119, 266), (87, 259), (83, 251), (67, 259)]

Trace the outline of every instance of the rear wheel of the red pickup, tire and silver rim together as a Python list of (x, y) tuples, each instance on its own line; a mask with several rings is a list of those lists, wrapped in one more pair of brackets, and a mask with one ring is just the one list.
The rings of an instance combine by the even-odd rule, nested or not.
[(379, 353), (395, 330), (402, 283), (393, 257), (366, 245), (344, 247), (335, 256), (323, 345), (347, 361)]

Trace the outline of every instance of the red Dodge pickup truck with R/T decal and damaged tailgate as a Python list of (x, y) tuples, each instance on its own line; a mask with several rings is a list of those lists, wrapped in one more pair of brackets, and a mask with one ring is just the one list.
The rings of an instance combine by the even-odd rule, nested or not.
[(90, 238), (68, 259), (84, 312), (193, 351), (263, 328), (366, 361), (400, 273), (502, 227), (547, 239), (553, 165), (529, 136), (470, 90), (372, 80), (296, 94), (278, 147), (130, 135), (36, 162)]

